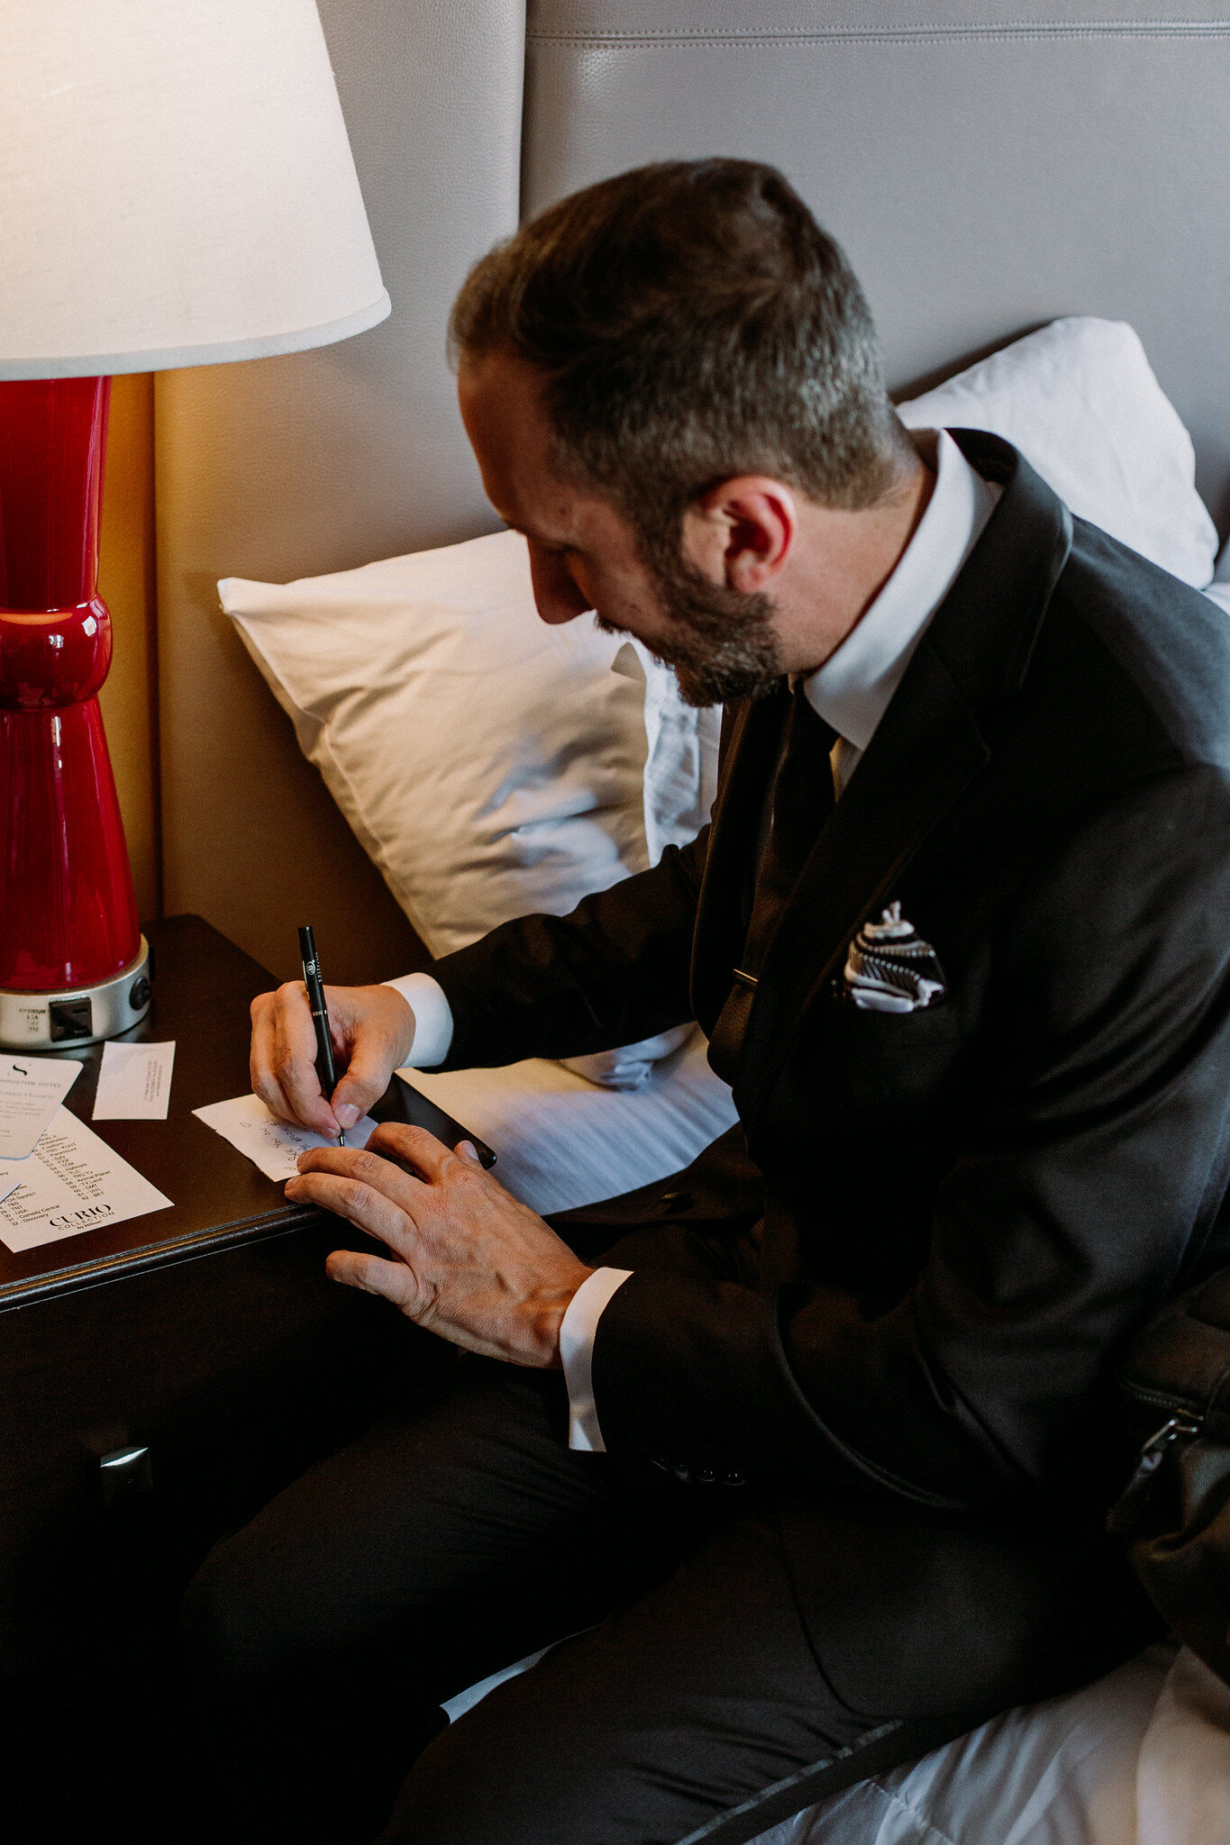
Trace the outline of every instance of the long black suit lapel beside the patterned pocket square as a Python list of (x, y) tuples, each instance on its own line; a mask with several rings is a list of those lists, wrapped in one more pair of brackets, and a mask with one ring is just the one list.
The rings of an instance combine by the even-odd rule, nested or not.
[[(952, 434), (1005, 493), (922, 637), (769, 943), (734, 1085), (749, 1125), (850, 937), (891, 900), (909, 860), (990, 760), (977, 712), (1020, 690), (1068, 561), (1071, 517), (1016, 450), (983, 432)], [(714, 987), (719, 974), (727, 982), (717, 1004), (730, 991), (730, 959), (719, 969), (714, 958)]]

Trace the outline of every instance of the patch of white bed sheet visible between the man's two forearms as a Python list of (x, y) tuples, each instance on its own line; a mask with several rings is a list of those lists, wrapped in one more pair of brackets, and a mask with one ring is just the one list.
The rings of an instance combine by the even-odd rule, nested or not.
[(644, 1089), (601, 1089), (542, 1057), (500, 1070), (400, 1076), (498, 1155), (496, 1179), (531, 1210), (572, 1210), (653, 1184), (734, 1125), (730, 1089), (697, 1028)]

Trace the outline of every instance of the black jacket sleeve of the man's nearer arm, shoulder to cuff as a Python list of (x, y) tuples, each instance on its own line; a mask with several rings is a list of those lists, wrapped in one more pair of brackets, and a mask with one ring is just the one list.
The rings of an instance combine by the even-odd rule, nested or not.
[[(948, 1506), (1095, 1491), (1108, 1375), (1226, 1190), (1228, 1018), (1230, 788), (1169, 771), (999, 919), (915, 1286), (880, 1310), (636, 1271), (597, 1325), (607, 1448), (854, 1469)], [(817, 1214), (837, 1159), (817, 1122)]]

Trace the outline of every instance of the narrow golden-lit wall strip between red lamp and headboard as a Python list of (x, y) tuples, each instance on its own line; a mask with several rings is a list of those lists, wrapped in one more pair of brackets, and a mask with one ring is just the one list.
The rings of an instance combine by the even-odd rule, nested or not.
[(159, 814), (159, 637), (153, 592), (153, 378), (114, 378), (98, 587), (114, 655), (101, 690), (136, 908), (162, 913)]

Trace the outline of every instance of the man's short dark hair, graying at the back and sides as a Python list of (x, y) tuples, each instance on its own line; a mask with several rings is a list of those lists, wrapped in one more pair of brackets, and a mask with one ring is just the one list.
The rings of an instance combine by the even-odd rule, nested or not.
[(732, 474), (857, 509), (911, 454), (854, 271), (756, 161), (642, 166), (540, 212), (454, 306), (454, 363), (494, 351), (544, 375), (561, 470), (658, 555)]

